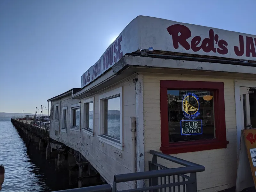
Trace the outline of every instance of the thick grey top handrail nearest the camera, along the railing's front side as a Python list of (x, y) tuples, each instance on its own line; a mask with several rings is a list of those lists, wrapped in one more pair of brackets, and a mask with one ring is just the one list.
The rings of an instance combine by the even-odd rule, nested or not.
[(177, 174), (203, 172), (204, 170), (205, 170), (204, 166), (196, 165), (196, 166), (178, 167), (178, 168), (172, 168), (172, 169), (162, 169), (162, 170), (154, 170), (154, 171), (146, 171), (146, 172), (126, 173), (126, 174), (115, 175), (114, 182), (121, 183), (126, 181), (133, 181), (133, 180), (151, 179), (156, 177), (166, 177), (166, 176), (177, 175)]

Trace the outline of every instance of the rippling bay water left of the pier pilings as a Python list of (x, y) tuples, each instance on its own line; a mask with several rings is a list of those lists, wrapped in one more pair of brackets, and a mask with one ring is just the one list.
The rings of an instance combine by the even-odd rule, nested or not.
[(47, 192), (68, 186), (68, 172), (56, 172), (52, 161), (41, 157), (34, 145), (29, 153), (11, 118), (0, 117), (0, 164), (5, 167), (1, 192)]

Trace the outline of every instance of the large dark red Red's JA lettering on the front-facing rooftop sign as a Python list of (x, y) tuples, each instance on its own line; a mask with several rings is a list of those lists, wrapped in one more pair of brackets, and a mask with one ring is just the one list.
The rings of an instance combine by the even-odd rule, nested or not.
[(221, 55), (226, 55), (229, 51), (233, 51), (239, 57), (244, 53), (246, 57), (256, 57), (256, 38), (250, 36), (245, 36), (244, 38), (244, 36), (239, 35), (237, 37), (239, 38), (239, 44), (234, 47), (228, 47), (228, 42), (225, 39), (221, 39), (219, 35), (214, 34), (213, 29), (209, 30), (209, 37), (202, 39), (200, 36), (194, 36), (190, 41), (188, 41), (188, 38), (191, 37), (191, 31), (184, 25), (171, 25), (167, 28), (167, 31), (172, 36), (174, 49), (182, 46), (184, 49), (191, 49), (193, 52), (198, 52), (202, 49), (206, 53), (217, 52)]

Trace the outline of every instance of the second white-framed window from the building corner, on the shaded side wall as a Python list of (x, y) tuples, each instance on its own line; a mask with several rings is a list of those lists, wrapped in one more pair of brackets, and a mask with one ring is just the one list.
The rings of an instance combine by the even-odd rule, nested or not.
[(83, 131), (93, 136), (94, 133), (94, 97), (84, 100), (84, 124)]

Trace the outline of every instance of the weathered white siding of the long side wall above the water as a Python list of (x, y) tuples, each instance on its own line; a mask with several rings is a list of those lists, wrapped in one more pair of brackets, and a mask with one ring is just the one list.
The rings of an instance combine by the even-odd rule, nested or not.
[[(93, 95), (89, 95), (81, 100), (71, 99), (71, 96), (62, 98), (59, 101), (53, 101), (52, 105), (60, 103), (60, 120), (62, 121), (62, 107), (68, 107), (67, 117), (67, 133), (59, 132), (59, 122), (53, 120), (51, 123), (51, 138), (58, 140), (70, 148), (79, 151), (100, 173), (100, 175), (111, 185), (113, 184), (114, 175), (130, 173), (132, 172), (132, 133), (130, 131), (130, 117), (136, 117), (136, 94), (135, 84), (132, 83), (132, 79), (115, 85), (102, 92), (98, 92)], [(123, 150), (117, 149), (103, 141), (98, 140), (98, 126), (99, 126), (99, 95), (114, 90), (118, 87), (123, 86)], [(81, 101), (81, 115), (80, 125), (83, 125), (84, 121), (84, 100), (94, 97), (94, 136), (83, 132), (71, 131), (70, 130), (70, 105), (79, 103)], [(61, 126), (61, 125), (60, 125)], [(81, 127), (80, 127), (81, 128)], [(58, 130), (58, 136), (55, 136), (55, 130)], [(103, 147), (98, 144), (103, 143)], [(118, 151), (122, 153), (122, 157), (115, 154)], [(129, 189), (132, 188), (132, 182), (118, 183), (117, 189)]]

